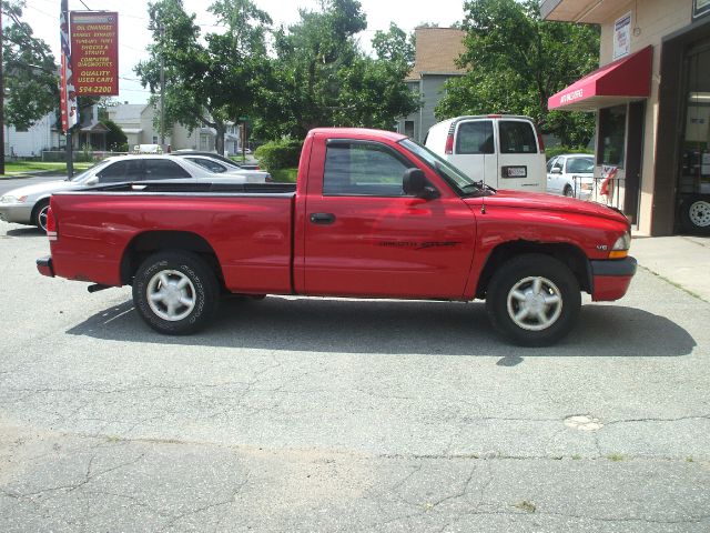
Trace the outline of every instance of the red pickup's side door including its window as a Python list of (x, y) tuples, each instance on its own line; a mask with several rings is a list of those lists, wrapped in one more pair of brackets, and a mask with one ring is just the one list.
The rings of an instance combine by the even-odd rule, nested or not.
[(305, 292), (460, 299), (475, 238), (462, 199), (405, 195), (402, 177), (416, 165), (386, 144), (329, 140), (324, 150), (306, 200)]

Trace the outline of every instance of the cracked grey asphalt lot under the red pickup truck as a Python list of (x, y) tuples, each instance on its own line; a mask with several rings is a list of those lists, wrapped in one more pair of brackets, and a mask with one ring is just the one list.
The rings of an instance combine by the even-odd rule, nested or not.
[(0, 222), (0, 531), (703, 532), (710, 304), (641, 269), (554, 348), (481, 303), (270, 296), (150, 331)]

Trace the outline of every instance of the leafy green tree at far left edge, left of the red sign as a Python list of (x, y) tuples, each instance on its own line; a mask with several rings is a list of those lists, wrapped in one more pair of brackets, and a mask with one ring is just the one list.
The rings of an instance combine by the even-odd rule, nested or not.
[(24, 1), (2, 1), (4, 120), (27, 129), (59, 103), (59, 77), (49, 46), (22, 19)]

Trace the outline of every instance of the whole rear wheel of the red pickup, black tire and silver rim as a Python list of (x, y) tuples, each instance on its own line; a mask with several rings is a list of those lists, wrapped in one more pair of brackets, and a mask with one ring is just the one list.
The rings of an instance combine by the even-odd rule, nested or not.
[(155, 331), (169, 335), (204, 328), (219, 301), (216, 275), (190, 252), (158, 252), (143, 261), (133, 280), (133, 303), (139, 314)]

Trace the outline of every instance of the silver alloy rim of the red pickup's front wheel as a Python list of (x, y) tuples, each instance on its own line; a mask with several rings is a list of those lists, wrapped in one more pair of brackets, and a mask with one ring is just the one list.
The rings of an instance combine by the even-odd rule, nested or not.
[(508, 314), (515, 324), (528, 331), (542, 331), (562, 312), (562, 294), (547, 278), (518, 281), (508, 292)]

